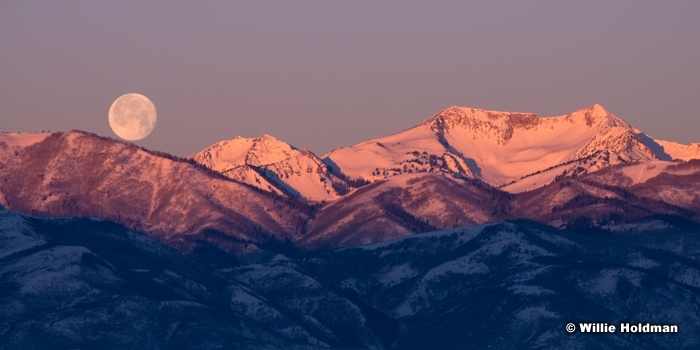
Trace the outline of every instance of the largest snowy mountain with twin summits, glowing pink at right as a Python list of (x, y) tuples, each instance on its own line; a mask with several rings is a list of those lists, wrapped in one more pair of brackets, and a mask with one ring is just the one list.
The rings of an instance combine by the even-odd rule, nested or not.
[[(600, 105), (548, 118), (451, 107), (411, 129), (336, 149), (324, 159), (350, 177), (372, 181), (432, 172), (522, 192), (558, 176), (664, 158), (637, 134)], [(692, 146), (667, 148), (685, 159), (700, 157)]]

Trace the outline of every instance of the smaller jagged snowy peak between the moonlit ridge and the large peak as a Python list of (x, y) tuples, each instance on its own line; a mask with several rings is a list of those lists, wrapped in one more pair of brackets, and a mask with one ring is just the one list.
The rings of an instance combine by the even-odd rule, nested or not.
[(231, 179), (311, 201), (337, 199), (345, 187), (313, 153), (270, 135), (221, 141), (191, 158)]

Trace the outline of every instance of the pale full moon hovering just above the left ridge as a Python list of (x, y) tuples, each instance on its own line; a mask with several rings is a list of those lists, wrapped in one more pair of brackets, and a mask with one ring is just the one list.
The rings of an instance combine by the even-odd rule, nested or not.
[(156, 127), (157, 120), (156, 106), (141, 94), (121, 95), (109, 107), (109, 126), (124, 140), (144, 139)]

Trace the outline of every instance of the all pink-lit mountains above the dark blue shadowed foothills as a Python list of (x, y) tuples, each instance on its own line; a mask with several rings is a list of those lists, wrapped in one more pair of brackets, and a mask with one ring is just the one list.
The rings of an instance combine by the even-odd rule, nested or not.
[(82, 131), (4, 133), (0, 204), (236, 251), (519, 218), (630, 231), (698, 222), (695, 158), (700, 144), (654, 139), (600, 105), (548, 118), (451, 107), (322, 157), (270, 135), (180, 158)]

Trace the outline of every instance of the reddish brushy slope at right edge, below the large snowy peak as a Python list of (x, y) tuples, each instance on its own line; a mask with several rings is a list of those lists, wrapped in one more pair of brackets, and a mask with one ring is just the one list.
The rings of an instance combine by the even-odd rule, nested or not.
[(618, 164), (519, 193), (512, 218), (590, 232), (696, 227), (700, 160)]

